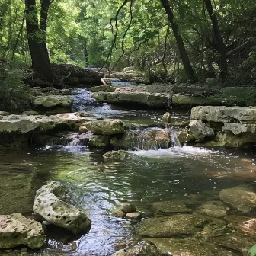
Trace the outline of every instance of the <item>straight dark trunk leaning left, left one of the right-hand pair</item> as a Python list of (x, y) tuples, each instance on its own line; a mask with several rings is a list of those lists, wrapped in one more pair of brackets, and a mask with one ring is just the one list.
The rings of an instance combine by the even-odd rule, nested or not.
[(191, 83), (195, 83), (198, 80), (197, 80), (197, 77), (194, 73), (194, 69), (191, 66), (190, 59), (187, 56), (187, 50), (184, 46), (184, 42), (183, 42), (183, 39), (181, 37), (181, 34), (179, 33), (178, 24), (174, 21), (174, 14), (171, 11), (171, 7), (168, 3), (168, 0), (160, 0), (160, 2), (162, 3), (163, 7), (165, 8), (165, 12), (168, 15), (168, 20), (171, 24), (171, 29), (172, 29), (172, 31), (174, 33), (174, 37), (177, 41), (178, 50), (180, 52), (181, 60), (183, 62), (184, 69), (185, 69), (185, 72), (187, 74), (187, 79)]

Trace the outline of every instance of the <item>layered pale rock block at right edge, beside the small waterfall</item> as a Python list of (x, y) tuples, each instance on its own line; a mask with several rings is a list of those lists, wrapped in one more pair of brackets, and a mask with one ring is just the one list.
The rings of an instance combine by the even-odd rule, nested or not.
[(190, 135), (204, 146), (254, 144), (256, 107), (194, 107), (191, 110)]

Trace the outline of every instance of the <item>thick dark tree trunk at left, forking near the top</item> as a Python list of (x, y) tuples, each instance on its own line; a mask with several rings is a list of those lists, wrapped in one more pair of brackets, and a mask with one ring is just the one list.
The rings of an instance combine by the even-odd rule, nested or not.
[[(39, 78), (40, 80), (53, 84), (54, 74), (50, 67), (50, 59), (46, 47), (46, 37), (41, 37), (42, 32), (38, 24), (36, 0), (25, 0), (25, 3), (27, 41), (34, 69), (34, 78)], [(43, 5), (41, 8), (43, 9)], [(43, 24), (46, 25), (46, 20)]]

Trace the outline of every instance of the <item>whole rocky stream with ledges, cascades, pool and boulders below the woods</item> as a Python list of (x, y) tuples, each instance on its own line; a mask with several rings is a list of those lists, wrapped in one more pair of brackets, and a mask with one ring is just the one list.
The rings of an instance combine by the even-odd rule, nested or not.
[(250, 255), (256, 108), (125, 85), (0, 113), (0, 253)]

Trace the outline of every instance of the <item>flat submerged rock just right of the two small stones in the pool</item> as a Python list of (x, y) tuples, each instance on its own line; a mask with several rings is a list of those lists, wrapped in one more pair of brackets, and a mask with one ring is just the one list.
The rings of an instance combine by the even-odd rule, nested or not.
[(153, 210), (159, 214), (192, 213), (182, 201), (161, 201), (152, 203)]

